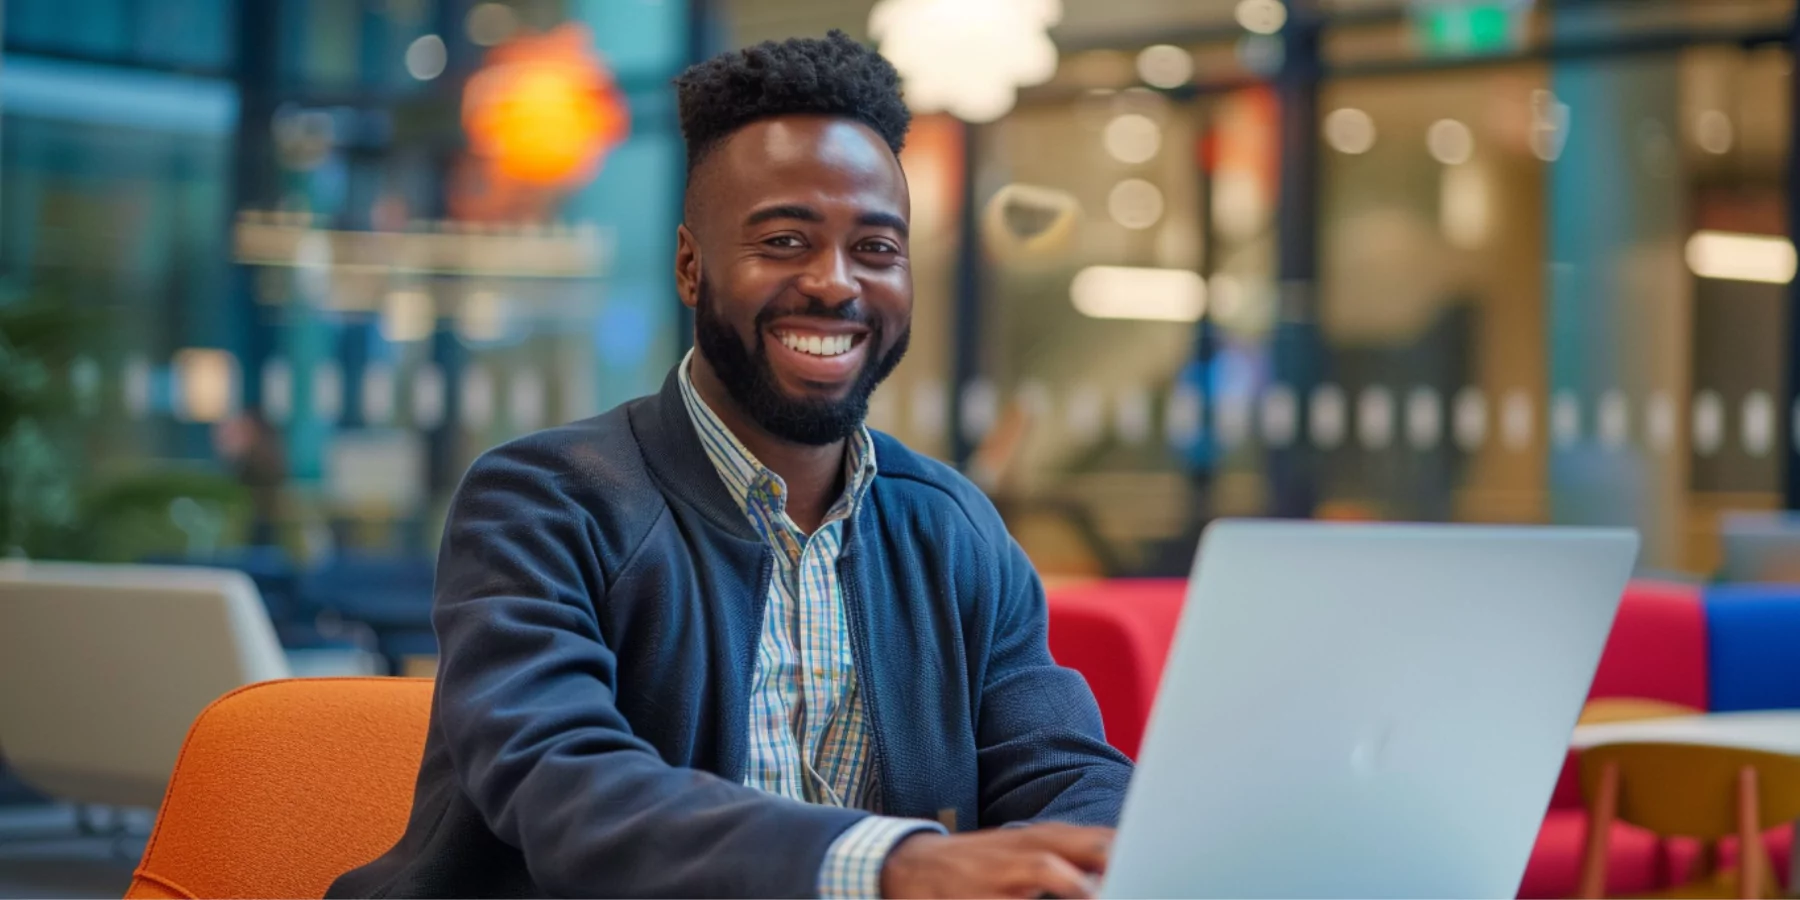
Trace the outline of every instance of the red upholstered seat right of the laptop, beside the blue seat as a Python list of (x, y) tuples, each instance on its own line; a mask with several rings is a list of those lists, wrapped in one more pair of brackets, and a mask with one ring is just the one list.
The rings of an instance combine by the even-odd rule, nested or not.
[[(1589, 700), (1661, 700), (1706, 709), (1706, 608), (1697, 587), (1633, 581), (1618, 605)], [(1523, 898), (1573, 896), (1588, 837), (1575, 751), (1570, 751), (1519, 886)], [(1687, 853), (1629, 824), (1613, 826), (1607, 893), (1670, 884)]]

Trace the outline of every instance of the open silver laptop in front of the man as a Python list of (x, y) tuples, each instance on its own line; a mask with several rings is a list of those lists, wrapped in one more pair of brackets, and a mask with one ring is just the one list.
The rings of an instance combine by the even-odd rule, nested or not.
[(1217, 522), (1103, 896), (1514, 896), (1631, 531)]

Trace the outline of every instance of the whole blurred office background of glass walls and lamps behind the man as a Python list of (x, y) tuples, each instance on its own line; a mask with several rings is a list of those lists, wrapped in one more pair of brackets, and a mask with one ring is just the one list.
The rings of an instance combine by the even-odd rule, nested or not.
[(689, 344), (671, 76), (833, 27), (922, 106), (873, 423), (1046, 578), (1276, 515), (1712, 580), (1800, 506), (1793, 0), (5, 0), (0, 554), (428, 671), (468, 463)]

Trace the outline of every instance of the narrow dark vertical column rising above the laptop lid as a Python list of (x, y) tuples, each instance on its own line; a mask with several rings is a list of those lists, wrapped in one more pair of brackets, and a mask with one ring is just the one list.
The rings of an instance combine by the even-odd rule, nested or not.
[[(1319, 277), (1319, 31), (1316, 0), (1287, 0), (1282, 29), (1282, 182), (1276, 214), (1276, 322), (1269, 356), (1274, 382), (1312, 396), (1323, 362), (1318, 320)], [(1305, 405), (1300, 432), (1305, 434)], [(1307, 441), (1269, 452), (1269, 513), (1307, 518), (1318, 506), (1318, 454)]]

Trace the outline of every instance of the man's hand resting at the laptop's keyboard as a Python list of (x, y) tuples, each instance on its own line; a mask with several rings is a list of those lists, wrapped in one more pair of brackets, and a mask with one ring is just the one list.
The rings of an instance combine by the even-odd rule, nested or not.
[(1107, 869), (1111, 828), (1030, 824), (961, 835), (920, 832), (882, 866), (882, 896), (1087, 898)]

